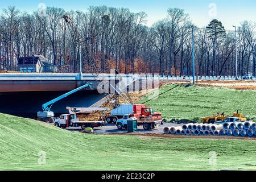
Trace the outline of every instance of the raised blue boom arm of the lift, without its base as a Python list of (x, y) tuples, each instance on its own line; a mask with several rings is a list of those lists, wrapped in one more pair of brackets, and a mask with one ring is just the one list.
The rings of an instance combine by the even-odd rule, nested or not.
[(68, 97), (69, 95), (71, 95), (71, 94), (73, 94), (73, 93), (75, 93), (75, 92), (77, 92), (77, 91), (79, 91), (79, 90), (81, 90), (81, 89), (87, 88), (87, 87), (89, 87), (90, 89), (92, 89), (92, 86), (91, 86), (90, 84), (86, 84), (86, 85), (80, 86), (79, 88), (74, 89), (74, 90), (72, 90), (72, 91), (70, 91), (70, 92), (68, 92), (68, 93), (65, 93), (65, 94), (61, 95), (61, 96), (59, 96), (59, 97), (57, 97), (57, 98), (55, 98), (55, 99), (53, 99), (53, 100), (47, 102), (46, 104), (43, 104), (43, 105), (42, 105), (43, 111), (51, 112), (51, 106), (52, 106), (55, 102), (57, 102), (57, 101), (59, 101), (59, 100), (65, 98), (65, 97)]

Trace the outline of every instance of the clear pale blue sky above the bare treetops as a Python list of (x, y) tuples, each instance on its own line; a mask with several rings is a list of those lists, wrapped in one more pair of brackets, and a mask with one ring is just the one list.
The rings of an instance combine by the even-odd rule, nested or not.
[[(65, 10), (82, 11), (88, 9), (89, 6), (97, 5), (127, 7), (133, 12), (146, 12), (148, 26), (158, 19), (165, 18), (169, 7), (184, 9), (199, 27), (207, 26), (214, 18), (221, 20), (227, 30), (232, 30), (232, 25), (239, 25), (245, 19), (256, 22), (255, 0), (1, 0), (0, 9), (14, 5), (22, 11), (32, 13), (38, 9), (39, 3), (44, 3), (46, 6), (62, 7)], [(212, 9), (209, 8), (210, 3), (216, 5), (216, 11), (214, 11), (215, 6), (211, 6)]]

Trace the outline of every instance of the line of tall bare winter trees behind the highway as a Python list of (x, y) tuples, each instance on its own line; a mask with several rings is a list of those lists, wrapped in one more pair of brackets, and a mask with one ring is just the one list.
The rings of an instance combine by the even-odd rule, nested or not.
[[(76, 31), (63, 19), (68, 15)], [(17, 71), (19, 57), (43, 55), (58, 72), (79, 72), (79, 47), (88, 47), (98, 72), (117, 68), (122, 73), (192, 75), (192, 26), (195, 27), (195, 61), (198, 75), (255, 75), (256, 34), (247, 20), (227, 31), (213, 19), (204, 28), (192, 23), (184, 10), (170, 8), (166, 18), (146, 26), (147, 14), (129, 9), (91, 6), (86, 12), (47, 7), (32, 14), (14, 6), (0, 17), (0, 70)], [(79, 34), (84, 41), (79, 41)], [(237, 40), (237, 42), (236, 42)], [(82, 69), (88, 73), (88, 57)]]

